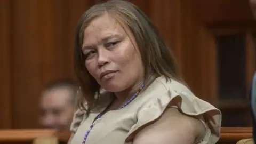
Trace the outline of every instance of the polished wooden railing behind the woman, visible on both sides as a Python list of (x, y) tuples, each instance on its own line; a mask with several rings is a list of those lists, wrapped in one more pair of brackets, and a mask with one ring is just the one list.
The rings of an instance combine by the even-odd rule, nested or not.
[[(60, 141), (67, 142), (69, 131), (49, 129), (9, 129), (0, 130), (0, 143), (31, 143), (36, 137), (55, 135)], [(218, 143), (236, 143), (241, 139), (252, 138), (251, 127), (222, 127), (221, 139)]]

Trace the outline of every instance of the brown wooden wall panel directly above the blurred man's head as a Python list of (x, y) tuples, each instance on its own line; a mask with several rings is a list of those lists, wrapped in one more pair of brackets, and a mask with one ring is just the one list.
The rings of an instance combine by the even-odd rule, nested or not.
[[(50, 82), (54, 78), (71, 76), (73, 73), (72, 49), (69, 47), (68, 1), (38, 1), (42, 5), (38, 11), (39, 28), (41, 34), (39, 49), (41, 55), (42, 83)], [(47, 10), (45, 12), (45, 10)], [(42, 35), (43, 34), (43, 35)], [(51, 71), (49, 71), (51, 70)], [(49, 73), (50, 72), (50, 73)], [(49, 75), (50, 74), (50, 75)]]

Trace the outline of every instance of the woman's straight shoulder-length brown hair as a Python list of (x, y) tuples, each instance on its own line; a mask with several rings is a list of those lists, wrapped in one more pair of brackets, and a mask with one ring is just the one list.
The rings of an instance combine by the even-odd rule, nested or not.
[(75, 71), (81, 86), (81, 94), (79, 94), (80, 97), (78, 98), (80, 107), (84, 109), (83, 103), (85, 99), (89, 109), (99, 105), (100, 85), (85, 67), (82, 41), (83, 31), (90, 25), (90, 22), (106, 13), (129, 28), (133, 34), (141, 53), (145, 73), (149, 70), (154, 70), (157, 75), (163, 75), (166, 79), (182, 81), (172, 52), (146, 14), (130, 2), (120, 0), (108, 1), (94, 5), (87, 10), (79, 19), (76, 29)]

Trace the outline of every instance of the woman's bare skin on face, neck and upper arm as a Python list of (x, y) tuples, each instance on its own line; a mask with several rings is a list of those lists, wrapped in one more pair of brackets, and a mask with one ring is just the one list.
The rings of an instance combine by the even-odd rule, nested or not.
[[(109, 36), (113, 37), (107, 38)], [(106, 41), (103, 40), (106, 38)], [(115, 93), (119, 103), (138, 91), (144, 71), (138, 47), (129, 29), (122, 27), (108, 14), (102, 15), (84, 30), (82, 47), (87, 55), (85, 67), (103, 88)], [(118, 72), (101, 79), (101, 71), (109, 69)], [(192, 144), (201, 139), (204, 133), (205, 127), (198, 119), (183, 115), (178, 109), (168, 108), (156, 122), (135, 133), (133, 143)]]

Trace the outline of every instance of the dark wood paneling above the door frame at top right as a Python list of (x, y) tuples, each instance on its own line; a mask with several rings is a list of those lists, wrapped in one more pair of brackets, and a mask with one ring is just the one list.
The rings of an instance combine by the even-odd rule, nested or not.
[(255, 27), (249, 1), (198, 0), (193, 5), (198, 17), (208, 27)]

